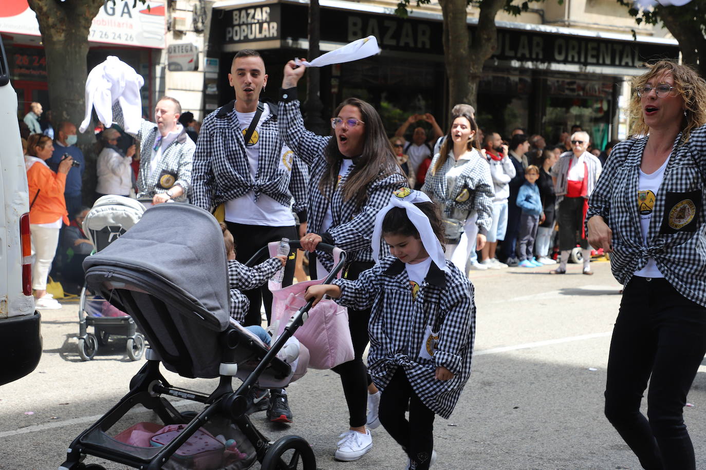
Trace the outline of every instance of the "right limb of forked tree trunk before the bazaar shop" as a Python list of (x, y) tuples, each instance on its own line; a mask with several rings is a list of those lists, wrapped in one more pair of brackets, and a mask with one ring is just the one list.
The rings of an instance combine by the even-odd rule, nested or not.
[(470, 47), (468, 67), (468, 94), (466, 102), (474, 108), (478, 104), (478, 87), (483, 76), (483, 65), (498, 47), (498, 30), (495, 16), (505, 5), (505, 0), (483, 0), (480, 4), (476, 35)]

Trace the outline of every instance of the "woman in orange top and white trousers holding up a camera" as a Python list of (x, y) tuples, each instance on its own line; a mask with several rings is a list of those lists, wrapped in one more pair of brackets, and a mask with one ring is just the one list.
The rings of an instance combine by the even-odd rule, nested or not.
[(68, 225), (64, 186), (66, 173), (73, 159), (66, 157), (57, 173), (44, 161), (52, 156), (52, 139), (42, 134), (32, 134), (27, 140), (25, 167), (30, 190), (30, 232), (32, 233), (32, 289), (35, 290), (37, 309), (60, 309), (61, 304), (47, 295), (47, 275), (52, 267), (56, 245), (59, 243), (61, 223)]

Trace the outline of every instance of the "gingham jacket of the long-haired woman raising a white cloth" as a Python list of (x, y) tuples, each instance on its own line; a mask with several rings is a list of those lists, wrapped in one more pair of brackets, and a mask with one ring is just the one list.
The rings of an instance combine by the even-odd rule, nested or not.
[[(321, 178), (326, 178), (326, 160), (323, 149), (329, 139), (309, 132), (304, 128), (304, 120), (299, 112), (299, 101), (296, 99), (296, 88), (283, 90), (286, 98), (280, 101), (280, 135), (299, 159), (309, 166), (309, 221), (307, 229), (311, 233), (318, 233), (323, 242), (335, 245), (346, 252), (348, 261), (373, 262), (373, 248), (371, 238), (375, 226), (375, 216), (378, 211), (390, 202), (393, 191), (409, 185), (405, 175), (393, 173), (374, 180), (368, 185), (367, 200), (359, 208), (354, 200), (343, 200), (343, 185), (345, 178), (338, 183), (333, 194), (322, 194), (318, 189)], [(354, 163), (355, 165), (355, 163)], [(351, 168), (354, 168), (354, 165)], [(333, 214), (333, 224), (326, 233), (321, 233), (323, 218), (328, 210), (329, 202)], [(389, 253), (384, 243), (381, 254)], [(385, 252), (385, 250), (387, 250)], [(329, 253), (316, 252), (323, 266), (329, 271), (333, 268), (333, 259)]]

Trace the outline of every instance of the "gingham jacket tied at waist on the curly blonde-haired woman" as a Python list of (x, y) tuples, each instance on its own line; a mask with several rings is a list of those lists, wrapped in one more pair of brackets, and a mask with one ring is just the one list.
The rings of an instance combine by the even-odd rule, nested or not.
[[(611, 269), (618, 282), (628, 283), (654, 258), (681, 295), (706, 307), (706, 125), (691, 132), (686, 144), (680, 140), (681, 133), (657, 192), (646, 245), (640, 233), (638, 181), (647, 137), (626, 140), (611, 151), (589, 199), (586, 220), (602, 216), (613, 231)], [(680, 228), (680, 217), (691, 207), (693, 220)]]

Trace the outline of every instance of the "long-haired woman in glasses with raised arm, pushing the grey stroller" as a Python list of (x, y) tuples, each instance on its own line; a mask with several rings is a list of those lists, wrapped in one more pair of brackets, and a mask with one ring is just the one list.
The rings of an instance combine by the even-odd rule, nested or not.
[[(345, 99), (333, 113), (330, 136), (304, 128), (297, 99), (297, 82), (304, 70), (294, 61), (285, 66), (277, 119), (287, 146), (309, 166), (309, 233), (301, 238), (301, 247), (314, 255), (311, 258), (315, 261), (310, 258), (309, 262), (312, 279), (325, 278), (333, 268), (330, 254), (316, 251), (316, 245), (323, 242), (345, 250), (345, 277), (355, 280), (374, 264), (371, 237), (376, 214), (388, 204), (394, 190), (408, 183), (380, 116), (365, 101)], [(383, 248), (387, 250), (386, 245)], [(349, 310), (355, 357), (333, 369), (340, 375), (350, 415), (350, 428), (340, 436), (335, 452), (338, 460), (357, 460), (368, 452), (373, 441), (366, 423), (370, 428), (380, 424), (380, 394), (363, 362), (369, 318), (370, 309)], [(367, 415), (366, 406), (370, 409)]]

